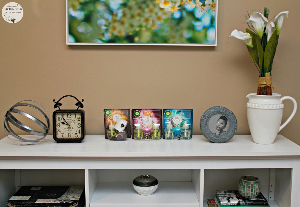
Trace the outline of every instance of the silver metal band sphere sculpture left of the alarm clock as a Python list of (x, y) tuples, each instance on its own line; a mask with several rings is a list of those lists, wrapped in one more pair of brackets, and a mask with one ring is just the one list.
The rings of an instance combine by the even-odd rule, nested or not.
[[(38, 141), (44, 139), (46, 137), (46, 135), (48, 134), (49, 129), (50, 129), (50, 120), (49, 120), (49, 114), (48, 114), (47, 110), (40, 103), (38, 103), (37, 101), (32, 101), (32, 102), (35, 102), (35, 103), (39, 104), (41, 107), (43, 107), (44, 110), (46, 110), (46, 113), (47, 113), (46, 114), (38, 106), (36, 106), (34, 104), (26, 103), (28, 101), (32, 101), (32, 100), (23, 100), (23, 101), (20, 101), (20, 102), (16, 103), (12, 107), (10, 107), (4, 115), (4, 121), (3, 122), (4, 122), (5, 134), (7, 135), (7, 137), (9, 139), (10, 139), (10, 137), (8, 136), (7, 132), (9, 134), (11, 134), (13, 137), (15, 137), (16, 139), (21, 140), (22, 142), (20, 142), (18, 140), (17, 140), (18, 142), (16, 142), (16, 141), (10, 139), (13, 143), (18, 144), (18, 145), (32, 145), (32, 144), (35, 144)], [(32, 116), (29, 113), (18, 109), (17, 107), (23, 107), (23, 108), (24, 107), (31, 107), (31, 108), (37, 110), (39, 113), (41, 113), (44, 116), (44, 118), (46, 119), (46, 123), (41, 121), (40, 119), (36, 118), (35, 116)], [(15, 116), (13, 116), (15, 114), (20, 114), (20, 115), (23, 115), (23, 116), (31, 119), (33, 122), (35, 122), (41, 128), (41, 131), (40, 130), (39, 131), (34, 130), (34, 129), (30, 128), (29, 126), (27, 126), (26, 124), (20, 122)], [(27, 132), (27, 133), (29, 133), (31, 135), (35, 135), (35, 136), (27, 137), (27, 138), (30, 138), (30, 139), (22, 138), (18, 134), (16, 134), (16, 132), (13, 131), (10, 124), (17, 127), (17, 128), (19, 128), (20, 130), (22, 130), (24, 132)]]

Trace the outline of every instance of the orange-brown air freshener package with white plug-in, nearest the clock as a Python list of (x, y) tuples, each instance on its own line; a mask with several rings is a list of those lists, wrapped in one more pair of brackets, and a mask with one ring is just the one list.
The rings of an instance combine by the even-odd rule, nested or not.
[(104, 109), (104, 131), (109, 140), (130, 138), (130, 109)]

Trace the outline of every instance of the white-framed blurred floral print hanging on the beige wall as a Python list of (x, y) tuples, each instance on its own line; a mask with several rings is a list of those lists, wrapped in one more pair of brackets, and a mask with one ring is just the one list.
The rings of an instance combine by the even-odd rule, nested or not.
[(216, 45), (217, 0), (67, 0), (67, 44)]

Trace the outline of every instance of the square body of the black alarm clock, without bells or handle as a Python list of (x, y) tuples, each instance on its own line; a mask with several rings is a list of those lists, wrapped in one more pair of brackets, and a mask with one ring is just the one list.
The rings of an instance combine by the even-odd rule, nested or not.
[(55, 118), (55, 136), (57, 139), (81, 139), (83, 137), (82, 113), (57, 112), (53, 118)]

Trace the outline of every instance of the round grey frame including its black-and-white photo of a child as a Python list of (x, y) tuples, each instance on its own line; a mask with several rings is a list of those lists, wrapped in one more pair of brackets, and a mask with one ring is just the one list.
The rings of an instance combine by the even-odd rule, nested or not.
[(202, 134), (213, 143), (229, 141), (235, 135), (237, 128), (238, 123), (234, 114), (226, 107), (211, 107), (203, 113), (200, 119)]

